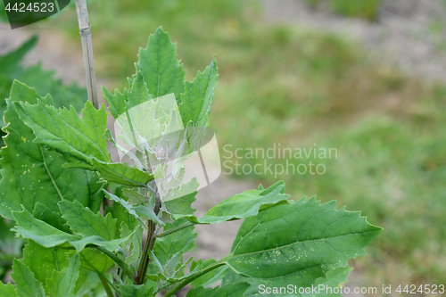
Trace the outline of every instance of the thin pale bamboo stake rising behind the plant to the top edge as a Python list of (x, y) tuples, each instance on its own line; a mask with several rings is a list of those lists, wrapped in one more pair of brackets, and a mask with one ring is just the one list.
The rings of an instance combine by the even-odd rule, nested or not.
[(91, 41), (91, 25), (88, 19), (86, 0), (75, 0), (78, 12), (79, 33), (82, 40), (82, 52), (84, 54), (85, 74), (87, 78), (88, 100), (99, 109), (99, 101), (96, 90), (95, 63), (93, 62), (93, 46)]

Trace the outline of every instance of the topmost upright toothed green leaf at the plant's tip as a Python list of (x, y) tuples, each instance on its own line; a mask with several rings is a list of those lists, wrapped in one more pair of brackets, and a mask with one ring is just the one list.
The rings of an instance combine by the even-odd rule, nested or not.
[(185, 89), (185, 73), (177, 60), (177, 45), (161, 27), (149, 37), (145, 49), (139, 49), (136, 71), (141, 71), (154, 98), (174, 93), (177, 103)]

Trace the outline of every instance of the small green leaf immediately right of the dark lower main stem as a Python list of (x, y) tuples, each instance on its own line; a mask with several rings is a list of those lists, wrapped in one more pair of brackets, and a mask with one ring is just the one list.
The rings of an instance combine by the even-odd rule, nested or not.
[[(172, 224), (166, 224), (164, 230), (169, 230), (186, 222), (186, 219), (178, 219)], [(156, 240), (153, 253), (160, 261), (161, 266), (166, 265), (170, 258), (178, 252), (188, 252), (194, 246), (196, 237), (194, 227), (188, 227), (173, 234), (160, 237)]]

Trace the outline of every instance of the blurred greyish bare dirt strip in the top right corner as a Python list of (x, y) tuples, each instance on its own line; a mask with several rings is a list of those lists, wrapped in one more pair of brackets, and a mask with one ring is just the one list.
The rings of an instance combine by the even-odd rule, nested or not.
[(443, 0), (383, 0), (377, 20), (347, 19), (321, 2), (261, 0), (264, 19), (300, 28), (335, 32), (359, 41), (369, 58), (391, 63), (403, 73), (446, 80), (446, 5)]

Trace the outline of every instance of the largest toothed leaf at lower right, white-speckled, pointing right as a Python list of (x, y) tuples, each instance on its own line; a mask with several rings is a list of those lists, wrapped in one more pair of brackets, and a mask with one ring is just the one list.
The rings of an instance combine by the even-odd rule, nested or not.
[(364, 255), (380, 232), (359, 212), (335, 210), (335, 201), (321, 205), (301, 199), (244, 219), (225, 260), (259, 284), (307, 287)]

